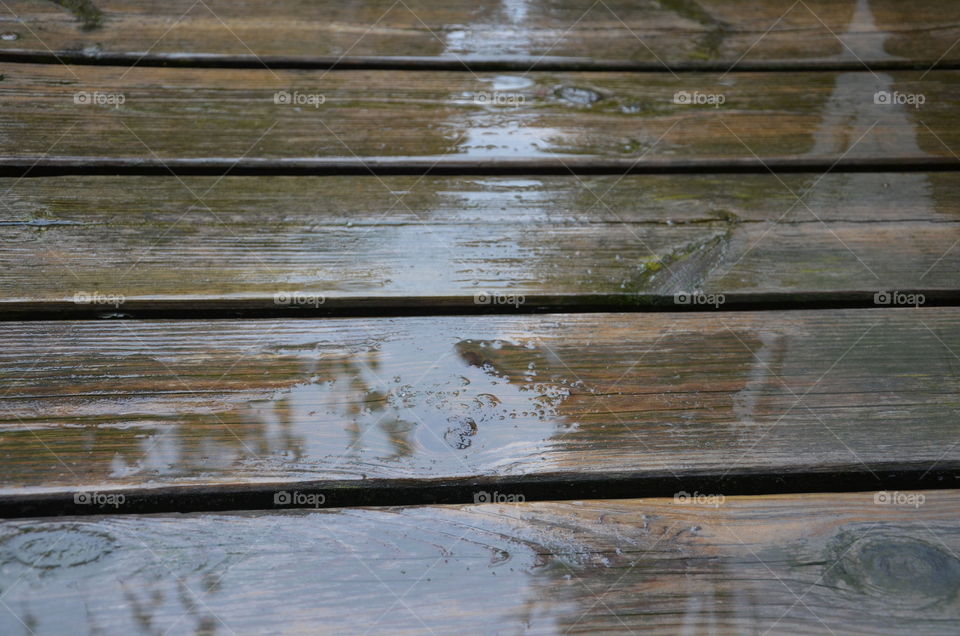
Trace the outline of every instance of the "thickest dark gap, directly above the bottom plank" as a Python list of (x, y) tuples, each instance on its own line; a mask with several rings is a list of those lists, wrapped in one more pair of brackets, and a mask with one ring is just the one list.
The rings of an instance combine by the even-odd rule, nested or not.
[[(289, 481), (147, 489), (78, 487), (49, 494), (0, 495), (0, 518), (497, 503), (497, 500), (510, 496), (533, 502), (674, 498), (678, 493), (733, 497), (954, 488), (960, 488), (960, 466), (951, 464), (931, 468), (930, 462), (903, 462), (869, 468), (837, 466), (816, 470), (752, 471), (727, 475), (677, 475), (670, 471), (658, 471), (423, 480)], [(123, 501), (118, 505), (105, 503), (105, 496), (109, 495), (114, 496), (114, 503), (119, 501), (116, 495), (123, 495)], [(310, 495), (322, 495), (322, 503), (305, 505)], [(319, 502), (320, 498), (314, 497), (310, 501)], [(104, 502), (103, 505), (100, 502)], [(693, 509), (696, 507), (691, 506)]]

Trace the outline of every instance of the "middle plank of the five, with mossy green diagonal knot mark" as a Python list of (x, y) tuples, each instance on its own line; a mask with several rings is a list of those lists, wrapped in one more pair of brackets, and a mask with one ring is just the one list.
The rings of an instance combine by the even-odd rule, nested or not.
[[(675, 306), (693, 290), (929, 302), (960, 271), (957, 173), (83, 176), (0, 191), (6, 317), (491, 308), (478, 292), (524, 309)], [(278, 305), (287, 292), (323, 303)], [(122, 306), (74, 302), (95, 293)]]

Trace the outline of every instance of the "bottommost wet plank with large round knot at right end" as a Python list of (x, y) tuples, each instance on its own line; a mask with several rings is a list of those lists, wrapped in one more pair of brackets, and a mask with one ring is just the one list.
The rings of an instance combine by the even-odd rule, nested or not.
[(6, 521), (0, 630), (955, 633), (960, 492), (889, 495)]

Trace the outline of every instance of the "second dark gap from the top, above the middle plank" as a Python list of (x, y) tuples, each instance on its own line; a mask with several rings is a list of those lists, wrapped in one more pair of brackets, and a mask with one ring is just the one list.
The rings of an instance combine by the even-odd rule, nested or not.
[(624, 174), (767, 174), (953, 172), (954, 157), (709, 159), (461, 159), (429, 157), (355, 158), (103, 158), (0, 157), (0, 177), (109, 176), (570, 176)]

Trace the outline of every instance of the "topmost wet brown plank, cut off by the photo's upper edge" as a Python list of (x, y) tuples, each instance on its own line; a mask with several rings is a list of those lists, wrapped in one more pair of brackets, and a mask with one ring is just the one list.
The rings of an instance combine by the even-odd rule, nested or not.
[[(62, 5), (62, 6), (57, 6)], [(655, 68), (956, 63), (958, 16), (933, 0), (602, 3), (8, 0), (0, 54), (119, 63), (540, 64)], [(72, 9), (72, 12), (71, 12)]]

